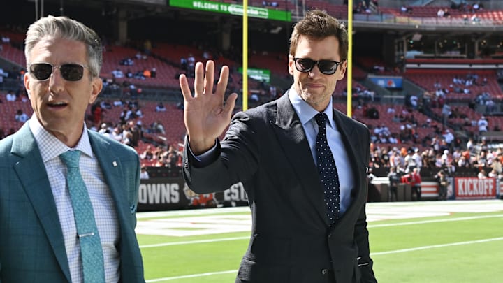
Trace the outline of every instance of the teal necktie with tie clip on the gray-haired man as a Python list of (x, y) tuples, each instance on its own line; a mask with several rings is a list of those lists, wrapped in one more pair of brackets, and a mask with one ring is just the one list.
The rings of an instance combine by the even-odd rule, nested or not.
[(85, 283), (105, 282), (105, 268), (103, 265), (103, 249), (94, 220), (94, 211), (89, 194), (82, 180), (79, 170), (80, 151), (71, 150), (59, 155), (66, 164), (68, 173), (66, 184), (70, 192), (73, 206), (73, 217), (77, 226), (77, 235), (82, 254), (82, 268)]

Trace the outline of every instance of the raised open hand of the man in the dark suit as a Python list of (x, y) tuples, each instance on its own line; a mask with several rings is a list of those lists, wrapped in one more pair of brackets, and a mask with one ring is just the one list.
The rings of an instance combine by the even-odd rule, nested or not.
[(221, 135), (231, 122), (232, 111), (238, 94), (231, 94), (224, 101), (229, 70), (223, 66), (217, 89), (213, 92), (214, 61), (197, 62), (195, 68), (194, 96), (185, 75), (180, 75), (180, 89), (184, 96), (184, 122), (192, 152), (198, 155), (214, 146), (215, 139)]

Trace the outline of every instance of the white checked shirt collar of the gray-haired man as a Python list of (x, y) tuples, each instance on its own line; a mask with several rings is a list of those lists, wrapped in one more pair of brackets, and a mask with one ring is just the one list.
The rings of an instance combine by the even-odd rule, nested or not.
[(68, 150), (80, 150), (89, 157), (93, 157), (91, 143), (89, 142), (89, 134), (86, 131), (86, 126), (82, 127), (82, 134), (77, 146), (71, 148), (65, 145), (61, 140), (58, 140), (52, 133), (49, 133), (38, 121), (36, 115), (31, 116), (28, 120), (31, 133), (33, 133), (38, 148), (40, 149), (42, 160), (44, 162), (59, 157), (60, 154)]

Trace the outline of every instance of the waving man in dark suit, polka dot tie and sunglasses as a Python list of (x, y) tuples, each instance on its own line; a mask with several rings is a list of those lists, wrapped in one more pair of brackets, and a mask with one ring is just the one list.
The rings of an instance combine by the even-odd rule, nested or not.
[[(205, 86), (204, 81), (214, 81), (214, 61), (207, 61), (206, 66), (198, 62), (194, 96), (187, 76), (180, 75), (188, 133), (183, 167), (187, 185), (205, 194), (242, 182), (249, 197), (254, 236), (247, 254), (254, 258), (250, 261), (245, 256), (236, 282), (277, 282), (288, 277), (289, 270), (296, 270), (295, 279), (291, 278), (296, 282), (356, 282), (356, 278), (377, 282), (365, 228), (364, 168), (370, 155), (370, 133), (335, 110), (332, 101), (337, 82), (346, 73), (347, 48), (343, 24), (321, 10), (307, 11), (291, 34), (291, 88), (279, 99), (233, 115), (230, 126), (237, 94), (230, 94), (224, 103), (228, 67), (221, 68), (213, 92), (213, 84)], [(321, 157), (316, 154), (316, 138), (326, 143), (325, 131), (333, 148), (326, 144), (327, 154)], [(296, 157), (291, 159), (291, 154)], [(330, 157), (333, 154), (335, 160)], [(340, 188), (335, 190), (340, 192), (327, 196), (337, 200), (335, 208), (330, 201), (329, 208), (323, 204), (325, 173), (320, 175), (317, 166), (322, 170), (326, 162), (338, 171)], [(314, 189), (305, 194), (307, 187)], [(286, 191), (291, 197), (284, 197)], [(297, 198), (299, 194), (310, 201)], [(309, 248), (287, 247), (280, 235), (308, 242)]]

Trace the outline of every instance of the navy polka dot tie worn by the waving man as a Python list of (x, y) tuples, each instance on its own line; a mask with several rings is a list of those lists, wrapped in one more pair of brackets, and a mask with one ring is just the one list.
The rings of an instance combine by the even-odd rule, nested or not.
[(318, 113), (314, 119), (316, 119), (316, 123), (318, 124), (316, 162), (321, 177), (321, 184), (323, 184), (328, 222), (332, 225), (339, 218), (340, 214), (339, 176), (337, 175), (337, 167), (335, 166), (333, 154), (326, 138), (325, 123), (328, 121), (328, 117), (325, 113)]

